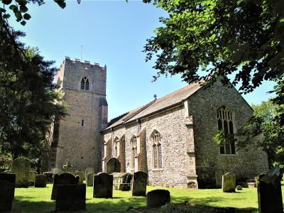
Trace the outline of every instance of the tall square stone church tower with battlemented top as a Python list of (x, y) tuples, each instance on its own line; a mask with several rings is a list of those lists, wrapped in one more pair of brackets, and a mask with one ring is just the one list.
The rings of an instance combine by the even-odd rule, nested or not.
[(102, 168), (100, 131), (107, 127), (107, 67), (65, 57), (56, 77), (68, 109), (64, 119), (55, 119), (49, 169), (62, 168), (69, 161), (75, 169), (91, 167), (98, 172)]

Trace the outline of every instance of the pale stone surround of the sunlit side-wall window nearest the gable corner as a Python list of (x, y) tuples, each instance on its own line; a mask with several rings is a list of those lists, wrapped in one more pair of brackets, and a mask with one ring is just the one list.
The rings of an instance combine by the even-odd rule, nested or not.
[[(156, 138), (156, 140), (155, 140)], [(152, 143), (152, 171), (163, 171), (163, 153), (162, 153), (162, 144), (160, 143), (161, 141), (161, 136), (160, 133), (154, 129), (150, 135), (151, 143)], [(157, 147), (157, 168), (155, 168), (155, 162), (154, 162), (154, 147)], [(160, 152), (161, 156), (159, 153), (159, 147), (160, 147)]]

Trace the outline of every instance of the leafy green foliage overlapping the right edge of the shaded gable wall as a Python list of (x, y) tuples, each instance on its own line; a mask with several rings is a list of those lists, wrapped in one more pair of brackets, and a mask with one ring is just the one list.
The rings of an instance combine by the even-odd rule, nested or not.
[(274, 104), (273, 101), (252, 105), (253, 117), (236, 134), (238, 148), (255, 144), (257, 148), (268, 154), (270, 167), (273, 163), (284, 165), (284, 129), (278, 121), (279, 114), (283, 114), (283, 106)]

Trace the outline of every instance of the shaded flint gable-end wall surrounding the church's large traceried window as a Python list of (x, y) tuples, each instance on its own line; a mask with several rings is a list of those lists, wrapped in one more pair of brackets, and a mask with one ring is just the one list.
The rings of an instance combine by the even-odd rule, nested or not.
[[(220, 155), (219, 147), (212, 141), (218, 131), (217, 109), (225, 105), (233, 112), (234, 132), (253, 115), (253, 110), (234, 89), (216, 82), (210, 89), (200, 89), (189, 98), (189, 114), (193, 116), (195, 139), (195, 164), (199, 187), (221, 187), (222, 175), (236, 174), (236, 180), (253, 178), (268, 170), (267, 155), (250, 148), (236, 155)], [(240, 169), (241, 168), (241, 169)], [(216, 178), (216, 175), (218, 176)]]

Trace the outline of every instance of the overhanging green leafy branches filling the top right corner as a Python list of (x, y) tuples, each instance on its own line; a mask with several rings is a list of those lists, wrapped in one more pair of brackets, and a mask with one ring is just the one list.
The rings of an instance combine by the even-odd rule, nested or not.
[[(150, 1), (144, 0), (148, 3)], [(160, 75), (182, 74), (186, 82), (232, 77), (240, 91), (263, 80), (280, 80), (284, 56), (284, 1), (155, 0), (160, 18), (144, 52)], [(234, 75), (231, 75), (234, 74)]]

